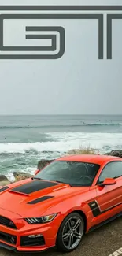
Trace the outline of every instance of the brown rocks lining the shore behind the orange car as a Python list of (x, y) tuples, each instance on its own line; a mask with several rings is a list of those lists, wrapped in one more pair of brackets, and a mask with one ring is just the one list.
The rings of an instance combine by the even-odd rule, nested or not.
[[(67, 154), (75, 154), (75, 153), (79, 154), (79, 150), (70, 150), (70, 151), (68, 151)], [(80, 154), (81, 154), (81, 150), (80, 150)], [(89, 154), (89, 153), (87, 152), (87, 154)], [(91, 150), (91, 154), (95, 154), (93, 150)], [(111, 156), (122, 158), (122, 150), (112, 150), (108, 153), (105, 153), (105, 155), (111, 155)], [(40, 160), (37, 164), (37, 169), (39, 169), (39, 170), (43, 169), (43, 167), (45, 167), (46, 165), (49, 165), (51, 161), (54, 161), (54, 159), (52, 159), (52, 160), (46, 160), (46, 159)], [(20, 172), (14, 172), (13, 176), (14, 176), (14, 181), (13, 182), (16, 182), (16, 181), (19, 181), (19, 180), (25, 180), (25, 179), (28, 179), (28, 178), (32, 177), (32, 175), (29, 174), (29, 173), (20, 173)], [(6, 185), (8, 185), (10, 183), (13, 183), (13, 182), (10, 182), (10, 180), (6, 177), (6, 175), (0, 175), (0, 187), (1, 186), (6, 186)]]

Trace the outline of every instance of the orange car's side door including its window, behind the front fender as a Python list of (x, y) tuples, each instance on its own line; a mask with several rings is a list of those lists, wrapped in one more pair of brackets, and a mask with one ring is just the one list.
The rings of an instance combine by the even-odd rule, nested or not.
[[(106, 178), (115, 178), (116, 184), (99, 187)], [(96, 186), (98, 222), (105, 221), (122, 210), (122, 161), (109, 162), (102, 169)]]

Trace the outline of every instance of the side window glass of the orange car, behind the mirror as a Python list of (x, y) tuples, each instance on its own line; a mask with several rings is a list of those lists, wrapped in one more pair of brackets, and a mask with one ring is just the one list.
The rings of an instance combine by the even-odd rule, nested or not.
[(118, 178), (120, 176), (122, 176), (122, 161), (110, 162), (102, 170), (97, 184), (102, 183), (106, 178)]

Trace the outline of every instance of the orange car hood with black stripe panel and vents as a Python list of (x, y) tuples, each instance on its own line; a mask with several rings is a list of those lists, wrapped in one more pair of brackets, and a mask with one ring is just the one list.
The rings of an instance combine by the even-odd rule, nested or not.
[(24, 180), (0, 189), (0, 208), (17, 213), (21, 217), (40, 216), (48, 209), (72, 198), (80, 191), (88, 191), (88, 187), (70, 187), (47, 180)]

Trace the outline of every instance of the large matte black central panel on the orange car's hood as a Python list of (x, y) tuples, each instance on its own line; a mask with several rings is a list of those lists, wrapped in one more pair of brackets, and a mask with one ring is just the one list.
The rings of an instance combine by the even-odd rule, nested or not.
[(45, 188), (54, 187), (54, 186), (57, 186), (57, 184), (54, 182), (44, 181), (44, 180), (33, 180), (27, 184), (15, 187), (11, 191), (20, 192), (20, 193), (29, 195), (36, 191), (40, 191)]

